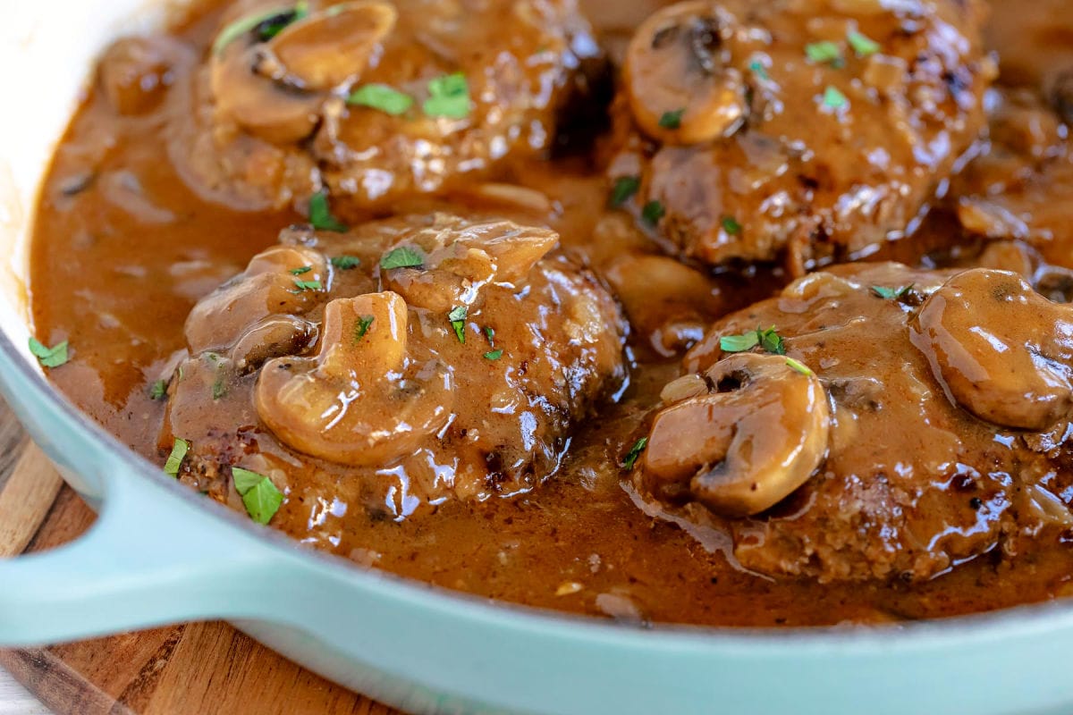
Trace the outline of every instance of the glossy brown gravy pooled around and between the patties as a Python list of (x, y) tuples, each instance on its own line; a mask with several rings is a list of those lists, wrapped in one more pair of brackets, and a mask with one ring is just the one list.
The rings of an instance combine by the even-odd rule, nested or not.
[[(614, 57), (653, 4), (591, 0), (587, 10), (597, 30), (607, 31)], [(219, 10), (209, 10), (176, 35), (204, 50), (219, 23)], [(168, 86), (183, 80), (161, 78)], [(286, 207), (238, 211), (192, 191), (162, 157), (170, 106), (120, 116), (100, 85), (89, 90), (42, 193), (30, 282), (36, 334), (72, 346), (71, 361), (52, 371), (54, 382), (132, 449), (160, 463), (165, 406), (150, 398), (149, 387), (170, 374), (187, 347), (188, 314), (274, 245), (282, 227), (303, 220)], [(587, 159), (523, 159), (493, 178), (495, 185), (533, 189), (538, 198), (519, 209), (516, 195), (504, 199), (473, 182), (442, 200), (409, 202), (406, 209), (511, 211), (558, 230), (565, 251), (599, 269), (631, 321), (636, 363), (622, 399), (583, 422), (560, 471), (529, 493), (451, 500), (421, 518), (401, 518), (403, 510), (366, 508), (344, 467), (325, 467), (291, 490), (274, 526), (359, 564), (449, 589), (631, 622), (885, 622), (1065, 593), (1073, 553), (1059, 533), (1015, 558), (993, 549), (934, 580), (820, 584), (748, 572), (732, 555), (727, 531), (690, 525), (646, 502), (619, 464), (665, 384), (680, 374), (676, 356), (714, 319), (778, 293), (783, 271), (708, 274), (664, 257), (624, 212), (605, 213), (607, 180)], [(359, 218), (359, 211), (348, 217)], [(960, 234), (954, 211), (937, 210), (913, 237), (881, 253), (911, 263), (928, 253), (969, 262), (978, 242)], [(970, 248), (951, 250), (955, 243)], [(1047, 256), (1057, 260), (1054, 252)], [(912, 445), (926, 429), (898, 424), (898, 444)], [(235, 498), (226, 491), (212, 496)]]

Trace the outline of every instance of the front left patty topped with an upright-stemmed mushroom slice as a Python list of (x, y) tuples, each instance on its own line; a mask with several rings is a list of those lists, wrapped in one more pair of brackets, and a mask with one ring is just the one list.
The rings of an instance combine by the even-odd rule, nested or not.
[(626, 377), (614, 300), (557, 242), (446, 214), (284, 232), (191, 312), (162, 443), (224, 498), (234, 466), (395, 517), (531, 489)]

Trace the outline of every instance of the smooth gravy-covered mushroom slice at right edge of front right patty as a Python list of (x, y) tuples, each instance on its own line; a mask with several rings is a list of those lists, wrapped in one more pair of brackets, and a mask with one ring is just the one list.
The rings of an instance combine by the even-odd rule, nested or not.
[(1016, 273), (958, 273), (931, 294), (912, 329), (936, 377), (976, 417), (1026, 430), (1070, 417), (1073, 308)]

